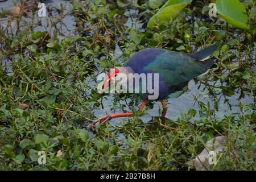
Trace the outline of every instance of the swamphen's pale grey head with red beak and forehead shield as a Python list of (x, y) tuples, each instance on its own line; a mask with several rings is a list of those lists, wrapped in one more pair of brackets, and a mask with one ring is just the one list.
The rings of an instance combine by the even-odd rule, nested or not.
[[(134, 73), (133, 69), (130, 67), (114, 67), (110, 68), (108, 75), (104, 80), (104, 84), (102, 85), (102, 89), (108, 88), (108, 86), (116, 85), (117, 83), (121, 84), (121, 82), (127, 82), (129, 73)], [(126, 79), (116, 79), (118, 77), (126, 77)], [(119, 80), (119, 81), (116, 81)]]

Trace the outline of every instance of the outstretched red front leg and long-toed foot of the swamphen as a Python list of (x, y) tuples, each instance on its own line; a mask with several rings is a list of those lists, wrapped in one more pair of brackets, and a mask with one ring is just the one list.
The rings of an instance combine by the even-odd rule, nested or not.
[[(146, 105), (146, 101), (143, 101), (142, 105), (141, 105), (141, 109), (143, 109), (145, 105)], [(104, 117), (102, 117), (100, 119), (96, 119), (92, 124), (90, 124), (88, 126), (88, 129), (93, 127), (97, 122), (101, 122), (100, 125), (103, 125), (105, 122), (107, 122), (113, 118), (132, 117), (132, 116), (133, 116), (133, 113), (117, 113), (117, 114), (105, 115)]]

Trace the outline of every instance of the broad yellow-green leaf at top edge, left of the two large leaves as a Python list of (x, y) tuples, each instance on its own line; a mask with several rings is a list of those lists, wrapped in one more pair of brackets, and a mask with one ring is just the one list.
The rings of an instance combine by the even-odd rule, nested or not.
[(155, 23), (161, 25), (176, 18), (184, 7), (188, 6), (192, 0), (169, 0), (167, 1), (148, 21), (147, 27), (153, 28)]

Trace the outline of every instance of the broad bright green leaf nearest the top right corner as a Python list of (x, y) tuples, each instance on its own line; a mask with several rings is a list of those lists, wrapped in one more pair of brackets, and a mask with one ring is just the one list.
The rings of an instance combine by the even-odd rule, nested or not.
[(217, 13), (235, 27), (249, 29), (243, 4), (238, 0), (217, 0)]

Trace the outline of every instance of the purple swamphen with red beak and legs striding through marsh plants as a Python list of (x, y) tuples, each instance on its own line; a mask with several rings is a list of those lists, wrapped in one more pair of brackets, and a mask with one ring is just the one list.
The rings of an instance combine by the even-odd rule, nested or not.
[[(160, 101), (164, 109), (167, 110), (168, 106), (165, 100), (168, 95), (183, 89), (189, 80), (207, 72), (214, 63), (209, 57), (217, 48), (218, 45), (214, 44), (196, 53), (180, 53), (159, 48), (143, 49), (131, 56), (125, 67), (111, 68), (102, 89), (113, 84), (112, 79), (120, 73), (127, 75), (127, 77), (129, 73), (158, 73), (159, 95), (155, 100)], [(148, 93), (140, 93), (140, 95), (143, 99), (141, 105), (141, 109), (143, 109), (147, 104)], [(103, 124), (112, 118), (132, 116), (133, 113), (109, 114), (96, 119), (88, 127), (91, 128), (97, 122)]]

